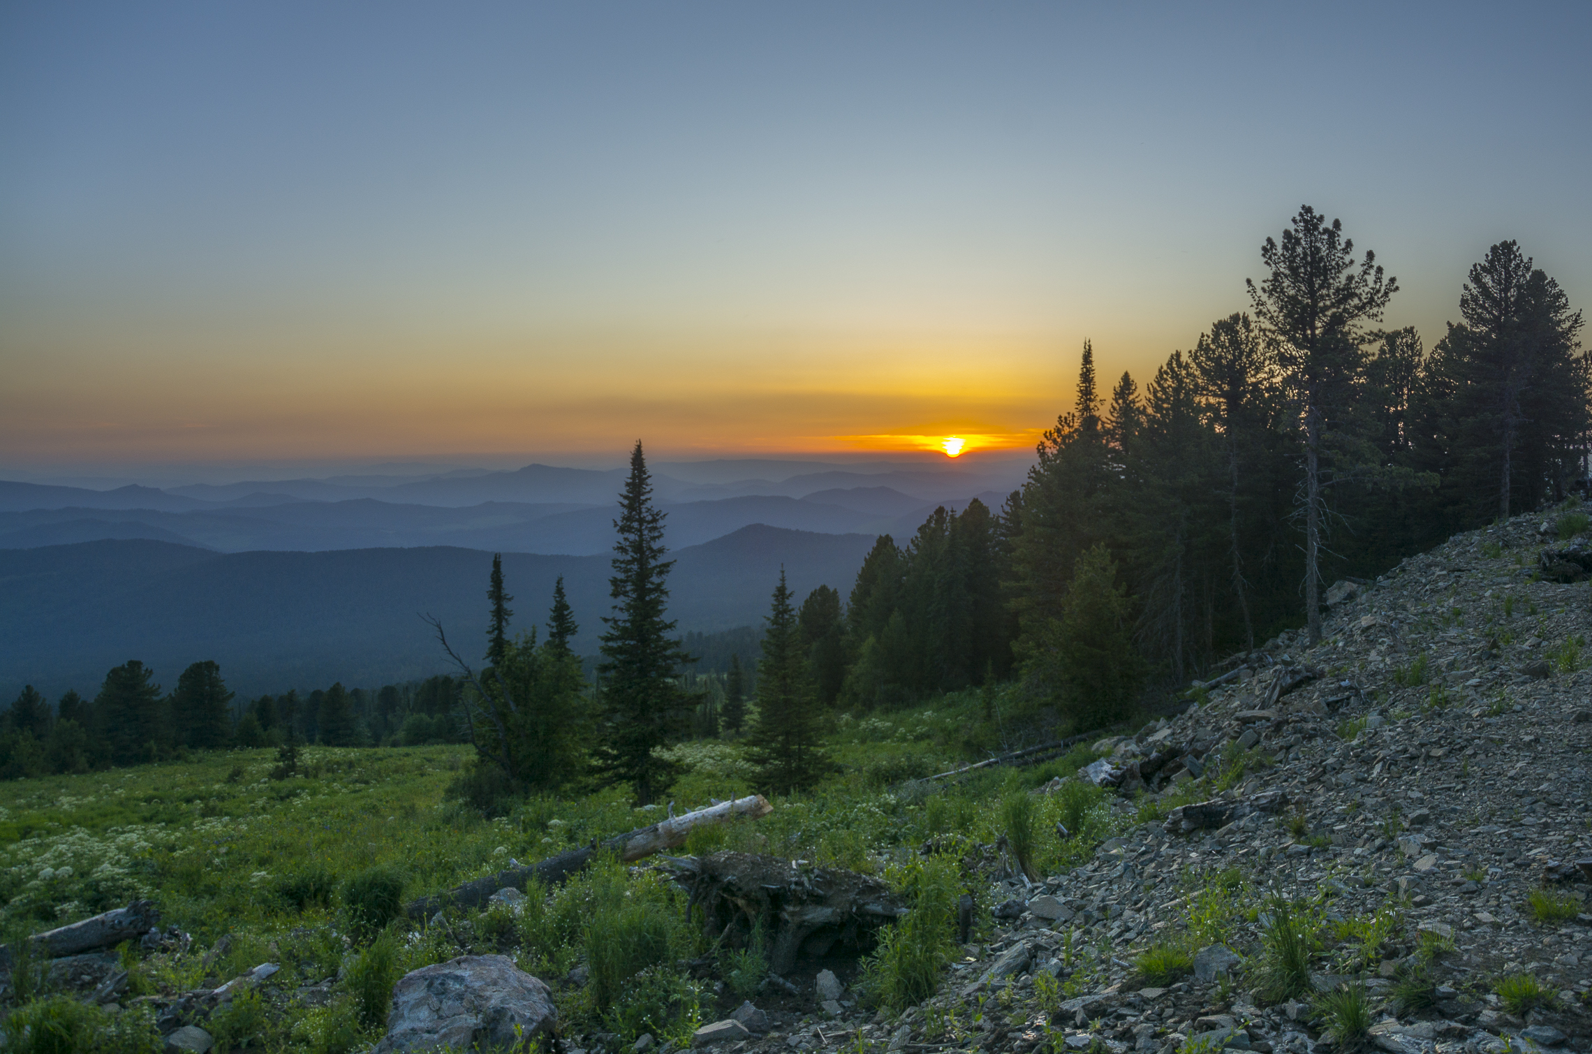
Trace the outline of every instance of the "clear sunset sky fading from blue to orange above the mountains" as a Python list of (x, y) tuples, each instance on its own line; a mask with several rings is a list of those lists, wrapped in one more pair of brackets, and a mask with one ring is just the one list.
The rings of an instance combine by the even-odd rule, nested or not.
[(1032, 449), (1301, 204), (1592, 291), (1592, 5), (0, 3), (0, 470)]

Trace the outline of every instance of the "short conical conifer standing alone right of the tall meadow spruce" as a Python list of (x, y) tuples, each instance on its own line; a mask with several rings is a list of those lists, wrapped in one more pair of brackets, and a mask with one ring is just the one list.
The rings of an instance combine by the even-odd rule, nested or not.
[(788, 794), (812, 787), (823, 772), (818, 710), (783, 568), (763, 634), (758, 723), (748, 745), (759, 779), (774, 791)]

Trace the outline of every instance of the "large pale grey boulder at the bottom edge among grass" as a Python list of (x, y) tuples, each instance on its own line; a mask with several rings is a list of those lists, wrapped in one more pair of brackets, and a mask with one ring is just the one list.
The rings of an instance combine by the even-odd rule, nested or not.
[(404, 974), (393, 986), (387, 1035), (374, 1054), (527, 1049), (559, 1022), (548, 986), (506, 955), (460, 955)]

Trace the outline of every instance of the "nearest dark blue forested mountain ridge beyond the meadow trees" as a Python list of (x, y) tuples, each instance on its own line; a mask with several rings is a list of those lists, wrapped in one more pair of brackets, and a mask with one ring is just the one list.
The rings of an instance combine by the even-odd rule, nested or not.
[[(872, 543), (750, 525), (681, 546), (670, 615), (681, 632), (761, 626), (782, 565), (798, 597), (818, 584), (845, 592)], [(215, 659), (244, 694), (427, 677), (447, 664), (420, 615), (441, 618), (476, 659), (490, 564), (490, 552), (454, 546), (223, 554), (131, 538), (0, 549), (0, 697), (24, 683), (92, 696), (127, 659), (153, 666), (167, 688), (189, 662)], [(605, 554), (505, 552), (503, 573), (516, 627), (546, 619), (564, 575), (576, 650), (595, 651), (610, 611)]]

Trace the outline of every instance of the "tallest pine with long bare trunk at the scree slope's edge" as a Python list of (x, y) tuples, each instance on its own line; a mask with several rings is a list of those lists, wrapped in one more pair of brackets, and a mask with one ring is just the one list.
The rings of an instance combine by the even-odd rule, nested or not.
[(1398, 280), (1368, 252), (1355, 264), (1344, 224), (1302, 205), (1278, 245), (1266, 239), (1261, 263), (1270, 274), (1247, 282), (1254, 315), (1293, 393), (1304, 447), (1304, 605), (1310, 645), (1321, 642), (1323, 455), (1334, 416), (1348, 409), (1364, 369), (1366, 323), (1380, 322)]

